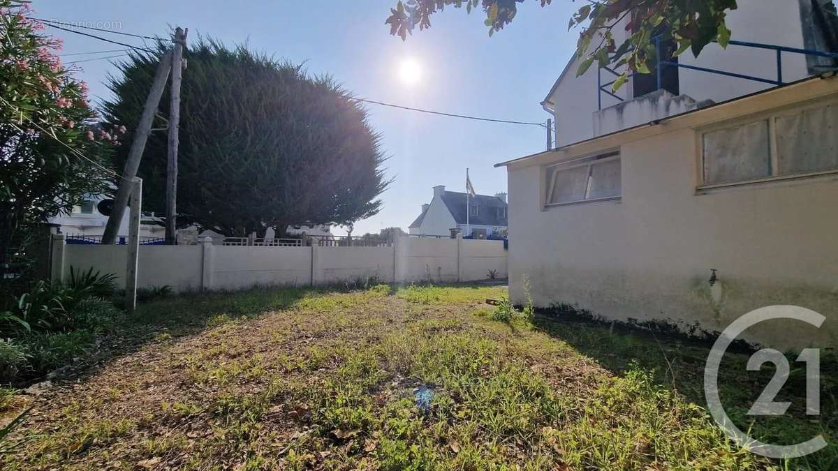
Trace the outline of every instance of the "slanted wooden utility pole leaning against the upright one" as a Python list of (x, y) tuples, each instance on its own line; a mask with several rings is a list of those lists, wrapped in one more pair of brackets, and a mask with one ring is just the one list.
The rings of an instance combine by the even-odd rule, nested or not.
[(152, 88), (148, 91), (146, 104), (142, 108), (140, 122), (137, 123), (137, 131), (134, 132), (134, 141), (131, 143), (131, 150), (128, 151), (128, 158), (125, 162), (125, 169), (122, 176), (125, 179), (119, 181), (119, 188), (116, 190), (116, 198), (113, 201), (111, 216), (107, 219), (105, 234), (102, 235), (102, 244), (112, 244), (116, 241), (119, 226), (122, 224), (122, 214), (128, 204), (128, 197), (131, 195), (133, 179), (137, 176), (137, 168), (140, 167), (142, 151), (146, 148), (148, 134), (152, 129), (154, 112), (157, 111), (160, 97), (163, 96), (163, 89), (166, 88), (168, 70), (172, 68), (172, 51), (168, 51), (160, 58), (157, 71), (154, 73)]

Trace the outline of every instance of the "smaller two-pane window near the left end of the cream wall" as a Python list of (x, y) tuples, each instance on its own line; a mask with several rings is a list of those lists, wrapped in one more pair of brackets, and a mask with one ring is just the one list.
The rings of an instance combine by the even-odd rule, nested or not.
[(615, 199), (622, 194), (619, 153), (585, 158), (579, 163), (547, 167), (546, 204)]

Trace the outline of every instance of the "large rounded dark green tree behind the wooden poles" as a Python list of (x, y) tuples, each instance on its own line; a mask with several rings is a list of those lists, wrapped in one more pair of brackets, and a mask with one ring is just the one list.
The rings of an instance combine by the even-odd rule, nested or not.
[[(202, 39), (184, 50), (178, 224), (224, 235), (277, 235), (287, 225), (345, 225), (375, 215), (384, 178), (380, 136), (334, 80), (309, 76), (245, 46)], [(111, 77), (108, 122), (132, 129), (157, 57), (133, 54)], [(154, 127), (166, 127), (164, 95)], [(162, 211), (165, 131), (153, 132), (138, 171), (146, 210)], [(119, 165), (127, 149), (116, 153)]]

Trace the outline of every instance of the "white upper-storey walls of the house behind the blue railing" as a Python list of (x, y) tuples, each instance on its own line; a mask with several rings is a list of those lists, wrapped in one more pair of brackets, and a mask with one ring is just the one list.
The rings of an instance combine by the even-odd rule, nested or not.
[[(728, 13), (727, 25), (732, 30), (731, 39), (753, 43), (773, 44), (803, 48), (803, 29), (798, 0), (739, 0), (738, 9)], [(614, 28), (618, 44), (624, 37), (624, 28)], [(690, 51), (681, 54), (680, 63), (723, 70), (743, 75), (753, 75), (774, 80), (777, 77), (777, 56), (774, 51), (729, 45), (722, 49), (718, 44), (708, 44), (696, 58)], [(556, 123), (556, 147), (584, 141), (594, 134), (593, 113), (597, 111), (597, 65), (594, 64), (581, 77), (576, 76), (581, 60), (570, 65), (566, 75), (551, 94), (555, 103), (553, 116)], [(695, 101), (727, 101), (773, 85), (752, 80), (737, 79), (679, 68), (680, 93)], [(808, 75), (806, 59), (802, 54), (783, 53), (783, 80), (788, 83)], [(602, 71), (603, 84), (615, 77)], [(627, 81), (617, 95), (632, 98), (632, 82)], [(602, 94), (603, 109), (620, 101)], [(626, 123), (642, 121), (642, 117), (625, 116)], [(627, 124), (628, 126), (628, 124)]]

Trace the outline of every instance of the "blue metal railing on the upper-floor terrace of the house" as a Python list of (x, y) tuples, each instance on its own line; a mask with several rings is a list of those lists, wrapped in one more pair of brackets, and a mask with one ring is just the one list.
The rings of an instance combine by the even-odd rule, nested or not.
[[(756, 76), (753, 76), (753, 75), (744, 75), (744, 74), (737, 74), (735, 72), (727, 72), (725, 70), (716, 70), (716, 69), (710, 69), (710, 68), (707, 68), (707, 67), (699, 67), (697, 65), (680, 64), (678, 62), (673, 62), (671, 60), (660, 60), (660, 57), (661, 57), (661, 54), (662, 54), (660, 43), (661, 43), (662, 39), (663, 38), (660, 35), (655, 36), (654, 38), (652, 38), (652, 41), (654, 42), (655, 53), (658, 57), (657, 67), (655, 67), (655, 78), (654, 78), (654, 85), (655, 85), (654, 89), (655, 90), (660, 90), (660, 88), (661, 88), (662, 70), (663, 70), (664, 67), (680, 67), (680, 68), (683, 68), (683, 69), (697, 70), (697, 71), (700, 71), (700, 72), (707, 72), (707, 73), (716, 74), (716, 75), (726, 75), (728, 77), (735, 77), (737, 79), (753, 80), (753, 81), (765, 83), (765, 84), (768, 84), (768, 85), (779, 86), (779, 85), (784, 85), (784, 83), (785, 83), (783, 81), (783, 53), (784, 52), (793, 53), (793, 54), (814, 55), (816, 57), (825, 57), (825, 58), (828, 58), (828, 59), (838, 60), (838, 54), (829, 53), (829, 52), (821, 52), (821, 51), (812, 50), (812, 49), (789, 48), (789, 47), (786, 47), (786, 46), (778, 46), (778, 45), (774, 45), (774, 44), (751, 43), (751, 42), (747, 42), (747, 41), (731, 40), (731, 41), (727, 42), (727, 44), (732, 44), (732, 45), (735, 45), (735, 46), (744, 46), (744, 47), (756, 48), (756, 49), (770, 49), (770, 50), (776, 51), (777, 52), (777, 79), (773, 80), (773, 79), (765, 79), (765, 78), (762, 78), (762, 77), (756, 77)], [(612, 58), (612, 60), (613, 60), (613, 58)], [(623, 75), (623, 74), (620, 74), (617, 70), (613, 70), (612, 68), (610, 68), (608, 66), (603, 66), (603, 67), (598, 68), (598, 70), (597, 70), (597, 91), (598, 91), (598, 93), (597, 93), (597, 109), (600, 110), (600, 111), (602, 111), (602, 109), (603, 109), (603, 92), (606, 93), (609, 96), (613, 96), (614, 98), (616, 98), (619, 101), (625, 101), (622, 97), (616, 95), (612, 91), (606, 90), (606, 87), (608, 87), (610, 85), (613, 85), (613, 83), (616, 82), (617, 80), (616, 79), (611, 80), (610, 82), (607, 82), (607, 83), (603, 84), (603, 75), (602, 75), (602, 70), (603, 69), (607, 70), (608, 72), (610, 72), (611, 74), (613, 74), (617, 77), (619, 77), (620, 75)], [(638, 72), (635, 72), (634, 74), (630, 74), (629, 78), (633, 77), (634, 75), (638, 75)]]

